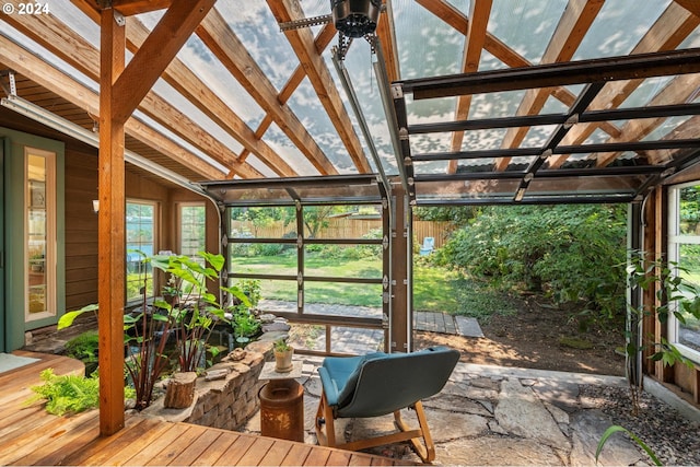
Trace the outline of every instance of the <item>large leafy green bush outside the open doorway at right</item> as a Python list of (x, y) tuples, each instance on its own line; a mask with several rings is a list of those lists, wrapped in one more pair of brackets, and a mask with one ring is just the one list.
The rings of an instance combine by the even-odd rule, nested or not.
[(580, 302), (605, 317), (625, 313), (623, 206), (492, 207), (436, 252), (502, 287)]

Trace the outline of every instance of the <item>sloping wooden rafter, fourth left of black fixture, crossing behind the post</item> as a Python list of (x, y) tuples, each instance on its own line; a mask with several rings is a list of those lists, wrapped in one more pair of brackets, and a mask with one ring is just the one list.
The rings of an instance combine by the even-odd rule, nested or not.
[[(98, 50), (78, 33), (66, 27), (55, 16), (12, 15), (8, 22), (85, 75), (95, 81), (100, 79)], [(67, 47), (67, 44), (70, 47)], [(262, 177), (262, 174), (249, 164), (240, 162), (233, 151), (209, 135), (199, 124), (175, 109), (155, 92), (151, 91), (147, 94), (140, 103), (139, 109), (242, 177)], [(190, 161), (189, 164), (200, 165), (201, 159), (195, 154), (192, 157), (198, 161)]]

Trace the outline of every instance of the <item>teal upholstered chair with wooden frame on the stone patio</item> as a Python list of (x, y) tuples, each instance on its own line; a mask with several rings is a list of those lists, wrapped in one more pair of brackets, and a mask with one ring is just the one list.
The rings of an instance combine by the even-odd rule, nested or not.
[[(316, 412), (316, 435), (325, 446), (358, 451), (409, 441), (425, 462), (435, 457), (421, 399), (442, 390), (459, 360), (459, 352), (433, 347), (412, 353), (370, 353), (328, 357), (318, 369), (323, 393)], [(416, 411), (418, 429), (409, 428), (400, 410)], [(334, 420), (394, 413), (398, 432), (351, 443), (337, 443)], [(422, 437), (422, 443), (420, 439)]]

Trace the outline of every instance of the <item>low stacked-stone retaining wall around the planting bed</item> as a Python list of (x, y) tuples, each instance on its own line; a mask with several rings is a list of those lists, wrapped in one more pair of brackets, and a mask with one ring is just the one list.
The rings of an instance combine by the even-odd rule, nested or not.
[[(269, 347), (271, 353), (271, 346)], [(195, 402), (190, 407), (166, 409), (161, 397), (141, 415), (173, 422), (236, 430), (259, 409), (258, 390), (265, 382), (258, 381), (258, 376), (266, 358), (269, 358), (266, 353), (246, 350), (242, 360), (234, 361), (228, 357), (208, 369), (209, 374), (220, 373), (219, 371), (228, 373), (217, 381), (207, 381), (206, 376), (198, 377)]]

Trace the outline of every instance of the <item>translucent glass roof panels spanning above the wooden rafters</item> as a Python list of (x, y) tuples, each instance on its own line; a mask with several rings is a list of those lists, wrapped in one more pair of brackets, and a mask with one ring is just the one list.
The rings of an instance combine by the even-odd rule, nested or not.
[[(471, 14), (472, 8), (481, 8), (488, 2), (472, 4), (474, 0), (386, 1), (389, 3), (387, 11), (393, 14), (395, 30), (393, 31), (394, 37), (382, 37), (382, 40), (390, 42), (390, 45), (396, 46), (394, 52), (399, 70), (399, 81), (462, 73), (467, 39), (465, 34), (468, 30), (466, 25), (470, 20), (468, 16)], [(301, 8), (300, 12), (288, 12), (292, 16), (299, 14), (300, 17), (312, 17), (329, 13), (328, 0), (302, 0), (292, 3)], [(591, 17), (590, 24), (576, 26), (581, 27), (580, 31), (583, 34), (571, 32), (568, 37), (564, 37), (562, 34), (565, 33), (569, 23), (563, 22), (567, 24), (562, 24), (561, 20), (569, 17), (572, 11), (576, 11), (570, 8), (570, 3), (569, 0), (493, 0), (488, 22), (482, 24), (485, 31), (481, 33), (486, 34), (483, 48), (478, 50), (478, 56), (470, 57), (475, 63), (479, 63), (478, 72), (508, 70), (514, 63), (520, 67), (527, 63), (537, 66), (545, 60), (544, 57), (559, 55), (572, 56), (573, 60), (586, 60), (626, 57), (631, 54), (651, 52), (658, 49), (700, 47), (699, 26), (696, 25), (695, 28), (684, 26), (681, 30), (679, 25), (674, 25), (673, 21), (669, 21), (672, 15), (680, 14), (682, 3), (676, 3), (673, 0), (643, 2), (639, 0), (607, 0), (599, 5), (599, 11), (596, 11)], [(585, 7), (582, 4), (581, 9), (591, 8), (593, 11), (597, 5), (595, 2), (584, 3)], [(179, 113), (183, 116), (182, 120), (186, 120), (185, 125), (191, 127), (189, 130), (194, 133), (206, 133), (207, 138), (215, 141), (215, 144), (210, 148), (220, 148), (226, 154), (207, 154), (202, 149), (206, 144), (188, 141), (191, 137), (185, 137), (183, 129), (176, 128), (177, 122), (168, 125), (166, 121), (147, 116), (142, 110), (137, 110), (135, 116), (165, 138), (175, 141), (185, 151), (197, 155), (224, 173), (228, 173), (231, 167), (226, 167), (221, 161), (233, 156), (241, 157), (240, 162), (270, 178), (277, 178), (278, 174), (282, 173), (276, 166), (276, 161), (279, 160), (301, 177), (317, 176), (322, 172), (342, 175), (358, 174), (361, 170), (350, 154), (354, 149), (347, 145), (349, 138), (357, 138), (362, 149), (362, 154), (358, 156), (368, 160), (371, 171), (378, 172), (378, 168), (382, 168), (389, 176), (399, 174), (404, 171), (402, 166), (399, 170), (399, 164), (402, 165), (404, 161), (401, 154), (395, 153), (394, 145), (397, 141), (398, 128), (392, 128), (390, 116), (386, 114), (383, 102), (385, 86), (377, 82), (377, 75), (373, 68), (377, 57), (372, 54), (370, 44), (362, 38), (354, 39), (342, 62), (361, 109), (361, 115), (355, 115), (350, 97), (343, 90), (342, 78), (338, 74), (332, 59), (332, 49), (338, 44), (337, 34), (332, 37), (330, 45), (320, 51), (322, 60), (302, 63), (303, 55), (298, 54), (298, 50), (294, 49), (294, 42), (290, 39), (290, 33), (280, 31), (280, 24), (276, 17), (279, 10), (276, 11), (276, 8), (285, 8), (279, 7), (280, 4), (282, 3), (278, 4), (266, 0), (217, 2), (210, 15), (221, 17), (224, 28), (228, 26), (223, 37), (214, 37), (208, 42), (205, 36), (200, 37), (198, 34), (194, 34), (177, 54), (179, 61), (197, 80), (200, 80), (200, 82), (189, 83), (188, 92), (194, 96), (201, 96), (201, 100), (180, 94), (176, 86), (166, 83), (164, 79), (159, 80), (154, 86), (154, 92), (167, 105), (172, 106), (173, 113)], [(132, 23), (133, 27), (144, 27), (148, 32), (158, 24), (163, 14), (163, 11), (156, 11), (129, 17), (128, 21)], [(98, 25), (83, 14), (73, 2), (52, 0), (51, 15), (93, 47), (98, 47)], [(569, 17), (569, 20), (572, 19)], [(622, 23), (623, 27), (620, 26)], [(693, 23), (688, 22), (687, 24)], [(660, 31), (662, 26), (666, 28)], [(675, 31), (674, 26), (679, 28)], [(317, 39), (324, 26), (315, 25), (310, 30), (310, 37), (313, 36)], [(479, 31), (476, 31), (475, 34), (479, 34)], [(57, 69), (73, 77), (81, 84), (97, 90), (95, 80), (78, 71), (80, 67), (72, 66), (70, 58), (61, 59), (59, 58), (62, 56), (61, 52), (55, 49), (51, 51), (51, 46), (55, 45), (38, 44), (2, 20), (0, 20), (0, 35), (34, 51)], [(219, 40), (220, 44), (210, 48), (211, 40)], [(62, 51), (65, 52), (65, 50)], [(224, 63), (222, 55), (226, 52), (233, 54), (235, 57), (230, 55), (230, 60), (224, 60), (228, 61)], [(131, 54), (127, 55), (131, 57)], [(318, 84), (317, 81), (307, 77), (296, 81), (292, 80), (296, 70), (308, 71), (310, 67), (316, 66), (325, 66), (327, 72), (323, 70), (319, 75), (329, 75), (331, 82)], [(241, 69), (234, 70), (235, 67), (241, 67)], [(255, 78), (245, 82), (245, 77)], [(664, 93), (672, 94), (668, 91), (670, 86), (682, 87), (679, 86), (676, 79), (675, 75), (656, 77), (627, 84), (606, 84), (600, 91), (599, 97), (586, 106), (586, 112), (635, 109), (650, 104), (672, 104), (662, 97)], [(684, 79), (687, 80), (685, 94), (678, 92), (678, 97), (673, 103), (681, 103), (678, 100), (685, 103), (700, 102), (700, 73), (685, 75)], [(317, 87), (313, 83), (316, 83)], [(223, 115), (224, 113), (212, 117), (207, 115), (208, 108), (202, 108), (207, 105), (205, 102), (208, 98), (203, 95), (205, 89), (213, 93), (228, 107), (225, 115)], [(332, 94), (329, 93), (331, 89), (337, 90), (340, 107), (328, 110), (329, 105), (337, 104), (334, 101), (336, 94), (329, 95)], [(477, 92), (470, 96), (468, 113), (465, 115), (468, 116), (468, 121), (514, 118), (521, 117), (523, 114), (535, 116), (567, 115), (575, 100), (582, 96), (584, 89), (584, 84), (567, 84), (556, 89), (556, 92), (547, 87)], [(680, 94), (684, 95), (680, 96)], [(532, 98), (533, 96), (536, 97)], [(464, 104), (464, 102), (462, 103)], [(530, 104), (525, 105), (524, 102), (530, 102)], [(456, 109), (460, 105), (460, 100), (454, 96), (417, 100), (409, 93), (406, 95), (405, 104), (407, 125), (411, 127), (454, 122), (457, 119)], [(276, 109), (277, 114), (271, 108)], [(658, 141), (668, 138), (679, 128), (688, 127), (687, 122), (695, 115), (660, 118), (657, 124), (637, 132), (634, 132), (637, 120), (628, 117), (610, 118), (600, 124), (590, 125), (586, 129), (574, 128), (571, 135), (565, 136), (563, 144), (603, 144), (616, 141), (625, 142), (630, 138), (634, 141)], [(350, 121), (352, 129), (341, 136), (338, 127), (345, 121)], [(372, 139), (371, 143), (364, 138), (362, 122), (366, 124)], [(488, 156), (488, 154), (482, 155), (474, 152), (544, 148), (559, 128), (560, 125), (536, 124), (523, 127), (512, 126), (512, 128), (494, 126), (487, 129), (468, 130), (464, 135), (462, 132), (455, 133), (454, 130), (411, 133), (408, 142), (409, 151), (411, 154), (422, 157), (416, 161), (410, 171), (419, 178), (422, 175), (530, 170), (533, 164), (539, 164), (537, 155), (523, 156), (514, 152), (513, 156)], [(693, 137), (697, 138), (697, 133)], [(511, 143), (512, 141), (516, 141), (516, 143)], [(372, 148), (376, 149), (382, 167), (376, 166), (370, 152)], [(268, 157), (269, 152), (267, 151), (273, 152), (275, 157)], [(440, 154), (454, 154), (459, 151), (468, 156), (463, 159), (440, 156)], [(657, 153), (653, 151), (657, 151)], [(649, 161), (669, 159), (668, 151), (670, 150), (628, 150), (622, 148), (616, 151), (619, 153), (619, 160), (615, 160), (615, 164), (645, 165)], [(472, 154), (469, 154), (470, 152)], [(556, 153), (551, 160), (542, 164), (542, 167), (595, 165), (598, 152)], [(329, 170), (327, 166), (324, 170), (317, 168), (310, 161), (310, 156), (320, 160), (320, 162), (315, 162), (316, 165), (323, 166), (325, 159), (331, 167)], [(505, 163), (501, 164), (504, 161)], [(536, 172), (539, 166), (534, 171)], [(512, 184), (515, 185), (515, 188), (511, 186), (512, 184), (501, 183), (502, 187), (499, 188), (501, 191), (492, 191), (491, 196), (493, 199), (501, 196), (512, 198), (513, 192), (520, 186), (518, 182), (522, 180), (513, 180)], [(535, 188), (539, 180), (527, 186), (530, 196), (538, 192)], [(582, 183), (579, 178), (571, 178), (568, 182), (579, 185)], [(486, 183), (489, 185), (493, 180), (486, 180)], [(632, 185), (639, 184), (639, 179), (630, 183)], [(417, 190), (417, 192), (423, 194), (425, 197), (438, 194), (446, 197), (445, 187), (452, 189), (456, 186), (460, 186), (460, 188), (456, 190), (455, 196), (463, 197), (465, 188), (476, 189), (476, 182), (465, 185), (464, 182), (457, 180), (456, 185), (443, 184), (440, 189), (435, 183), (431, 183), (431, 185), (423, 185), (423, 189)], [(614, 186), (610, 189), (627, 190), (628, 188)], [(544, 188), (539, 191), (547, 192)], [(558, 192), (558, 190), (552, 188), (549, 190), (549, 194), (551, 192)], [(597, 196), (600, 192), (607, 191), (605, 188), (598, 187), (588, 192), (585, 186), (580, 190), (583, 196), (586, 194)], [(477, 192), (469, 196), (479, 197), (482, 195)]]

